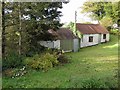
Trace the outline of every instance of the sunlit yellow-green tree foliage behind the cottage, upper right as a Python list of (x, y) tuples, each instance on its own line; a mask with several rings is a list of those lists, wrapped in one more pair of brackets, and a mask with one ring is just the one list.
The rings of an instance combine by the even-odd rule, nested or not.
[(104, 22), (107, 22), (106, 18), (110, 19), (110, 23), (117, 23), (119, 26), (119, 4), (120, 2), (85, 2), (81, 8), (82, 13), (88, 13), (94, 20), (102, 20), (103, 25), (105, 25)]

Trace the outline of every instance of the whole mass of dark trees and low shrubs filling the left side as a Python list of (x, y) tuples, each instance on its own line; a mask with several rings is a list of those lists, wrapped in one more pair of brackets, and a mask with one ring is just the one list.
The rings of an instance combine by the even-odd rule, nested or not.
[[(27, 69), (48, 70), (59, 63), (58, 51), (40, 46), (40, 40), (53, 40), (49, 29), (62, 24), (62, 2), (3, 2), (2, 58), (7, 76)], [(16, 70), (18, 69), (18, 70)], [(9, 75), (10, 74), (10, 75)]]

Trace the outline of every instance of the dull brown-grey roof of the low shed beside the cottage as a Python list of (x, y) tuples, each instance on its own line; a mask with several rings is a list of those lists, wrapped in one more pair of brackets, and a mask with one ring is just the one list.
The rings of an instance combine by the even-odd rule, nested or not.
[(77, 38), (73, 34), (73, 32), (68, 28), (60, 28), (56, 31), (50, 29), (50, 30), (48, 30), (48, 32), (51, 33), (54, 36), (57, 36), (58, 39), (74, 39), (74, 38)]

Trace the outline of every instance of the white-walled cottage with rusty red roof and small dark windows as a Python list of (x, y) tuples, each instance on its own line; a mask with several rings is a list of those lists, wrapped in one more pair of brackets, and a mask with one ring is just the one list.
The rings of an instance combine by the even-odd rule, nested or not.
[(82, 34), (80, 48), (109, 41), (108, 30), (100, 24), (76, 23), (76, 29)]

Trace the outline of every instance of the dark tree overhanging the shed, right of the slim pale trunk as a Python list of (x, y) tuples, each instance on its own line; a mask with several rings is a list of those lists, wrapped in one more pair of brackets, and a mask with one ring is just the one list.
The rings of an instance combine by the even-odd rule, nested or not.
[(58, 8), (62, 8), (62, 3), (30, 3), (26, 8), (24, 14), (29, 16), (29, 20), (25, 20), (26, 30), (30, 35), (31, 48), (37, 49), (37, 42), (47, 37), (48, 29), (56, 30), (62, 26), (59, 23), (61, 12), (58, 11)]

